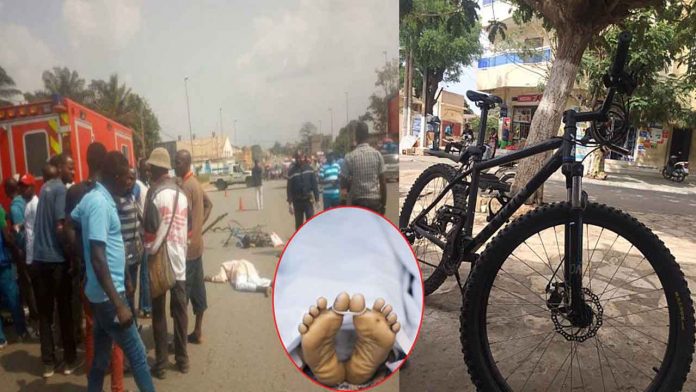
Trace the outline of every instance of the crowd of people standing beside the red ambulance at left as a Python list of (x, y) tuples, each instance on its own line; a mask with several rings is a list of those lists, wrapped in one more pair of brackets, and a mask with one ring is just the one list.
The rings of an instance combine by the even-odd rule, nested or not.
[[(165, 378), (169, 368), (167, 292), (178, 371), (189, 371), (187, 344), (203, 342), (202, 228), (212, 203), (186, 150), (172, 167), (167, 150), (156, 148), (136, 171), (121, 152), (94, 142), (86, 160), (89, 176), (74, 184), (72, 157), (52, 157), (38, 195), (31, 174), (4, 181), (11, 203), (9, 216), (0, 208), (0, 300), (18, 341), (38, 338), (43, 377), (84, 364), (89, 391), (102, 391), (109, 371), (112, 391), (124, 390), (124, 371), (139, 390), (154, 391), (152, 377)], [(152, 367), (138, 316), (152, 318)], [(1, 323), (0, 317), (0, 349), (8, 344)], [(82, 343), (84, 361), (77, 354)]]

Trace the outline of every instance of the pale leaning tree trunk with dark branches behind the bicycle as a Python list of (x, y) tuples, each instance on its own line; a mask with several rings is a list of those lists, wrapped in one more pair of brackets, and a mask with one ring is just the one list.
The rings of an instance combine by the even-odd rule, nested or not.
[[(645, 23), (636, 26), (634, 37), (640, 40), (651, 30), (657, 20), (664, 20), (678, 28), (675, 36), (675, 44), (681, 48), (673, 51), (667, 57), (676, 61), (681, 56), (689, 69), (696, 66), (694, 61), (694, 32), (696, 30), (696, 17), (694, 9), (685, 2), (664, 0), (514, 0), (518, 6), (515, 11), (515, 20), (518, 22), (529, 21), (532, 17), (542, 18), (544, 25), (552, 29), (556, 37), (556, 53), (549, 79), (546, 83), (544, 95), (539, 107), (532, 119), (531, 130), (527, 139), (528, 144), (534, 144), (556, 134), (561, 124), (562, 112), (571, 93), (573, 84), (578, 75), (578, 70), (583, 60), (585, 49), (593, 43), (610, 26), (623, 28), (627, 20), (636, 17), (641, 10), (652, 13), (652, 19), (645, 19)], [(605, 56), (610, 57), (608, 46), (602, 48)], [(613, 50), (613, 48), (612, 48)], [(647, 56), (664, 56), (669, 52), (669, 47), (658, 47)], [(684, 53), (688, 53), (684, 55)], [(688, 73), (691, 73), (690, 71)], [(544, 156), (534, 156), (525, 159), (515, 179), (515, 187), (526, 184), (532, 175), (541, 167)], [(540, 196), (540, 195), (539, 195)], [(539, 199), (539, 197), (537, 197)]]

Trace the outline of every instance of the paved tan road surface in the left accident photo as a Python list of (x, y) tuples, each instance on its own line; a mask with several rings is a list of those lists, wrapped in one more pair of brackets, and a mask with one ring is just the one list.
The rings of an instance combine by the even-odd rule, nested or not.
[[(226, 193), (209, 193), (214, 209), (212, 217), (228, 212), (228, 218), (244, 226), (265, 225), (284, 240), (294, 231), (294, 220), (285, 203), (285, 182), (272, 181), (265, 185), (263, 211), (238, 212), (239, 197), (250, 208), (255, 200), (251, 189), (231, 188)], [(398, 214), (397, 185), (389, 184), (392, 200), (387, 215)], [(263, 277), (272, 278), (280, 251), (272, 248), (239, 249), (223, 247), (224, 233), (205, 235), (203, 262), (207, 274), (215, 273), (226, 260), (245, 258), (255, 264)], [(302, 376), (286, 357), (276, 334), (271, 311), (271, 298), (263, 294), (240, 293), (227, 284), (206, 284), (208, 306), (204, 324), (203, 345), (189, 345), (191, 370), (187, 375), (170, 371), (164, 381), (155, 381), (160, 391), (323, 391)], [(149, 320), (142, 336), (150, 360), (154, 345)], [(171, 319), (170, 319), (171, 323)], [(189, 329), (193, 328), (193, 314), (189, 313)], [(170, 324), (171, 333), (171, 324)], [(10, 335), (11, 336), (11, 335)], [(10, 337), (13, 339), (13, 337)], [(80, 353), (82, 355), (82, 353)], [(173, 361), (173, 357), (170, 358)], [(73, 376), (56, 374), (47, 382), (41, 378), (42, 366), (39, 344), (10, 344), (0, 354), (0, 391), (75, 391), (85, 390), (83, 372)], [(108, 388), (108, 379), (105, 386)], [(126, 388), (135, 390), (130, 376)], [(393, 377), (375, 391), (398, 390), (398, 377)]]

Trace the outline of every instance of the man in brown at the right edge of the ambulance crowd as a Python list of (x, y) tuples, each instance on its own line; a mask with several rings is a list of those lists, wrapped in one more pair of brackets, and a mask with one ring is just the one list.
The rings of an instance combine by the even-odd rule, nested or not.
[(191, 301), (193, 314), (196, 315), (196, 326), (188, 335), (188, 342), (201, 344), (203, 342), (203, 313), (208, 308), (203, 278), (203, 225), (210, 217), (213, 203), (208, 194), (191, 171), (191, 153), (179, 150), (174, 159), (174, 171), (181, 178), (181, 189), (188, 200), (188, 211), (191, 216), (191, 230), (186, 249), (186, 295)]

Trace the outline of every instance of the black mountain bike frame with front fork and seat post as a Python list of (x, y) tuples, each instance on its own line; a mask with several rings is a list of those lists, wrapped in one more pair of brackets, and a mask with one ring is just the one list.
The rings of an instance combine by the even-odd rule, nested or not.
[[(610, 95), (613, 96), (613, 91), (610, 91)], [(476, 146), (479, 149), (483, 147), (489, 107), (484, 103), (481, 105), (481, 109), (482, 121), (479, 129), (479, 137), (476, 142)], [(563, 121), (565, 122), (565, 127), (562, 138), (551, 138), (498, 158), (481, 160), (480, 154), (475, 154), (473, 156), (473, 162), (470, 168), (462, 171), (456, 178), (450, 181), (435, 200), (421, 211), (416, 219), (413, 220), (413, 223), (411, 223), (416, 234), (428, 238), (443, 249), (443, 251), (449, 252), (451, 257), (446, 259), (449, 262), (446, 262), (443, 266), (448, 275), (455, 274), (462, 261), (475, 261), (477, 257), (475, 252), (480, 249), (481, 246), (483, 246), (483, 244), (510, 219), (510, 217), (512, 217), (524, 202), (531, 197), (556, 170), (563, 167), (563, 174), (566, 177), (567, 199), (573, 207), (572, 219), (566, 223), (565, 227), (566, 241), (564, 250), (565, 257), (563, 259), (564, 280), (567, 282), (571, 293), (569, 305), (572, 306), (574, 311), (581, 311), (581, 306), (584, 305), (582, 298), (582, 209), (584, 206), (584, 197), (582, 192), (583, 165), (581, 162), (576, 162), (575, 160), (577, 121), (578, 119), (585, 121), (601, 118), (603, 114), (603, 110), (581, 113), (575, 110), (568, 110), (564, 113)], [(558, 150), (545, 161), (539, 172), (537, 172), (527, 184), (522, 186), (510, 201), (493, 215), (491, 221), (473, 237), (474, 215), (476, 212), (476, 199), (478, 197), (478, 185), (481, 171), (556, 149)], [(455, 233), (454, 238), (448, 239), (447, 243), (443, 243), (436, 238), (437, 236), (419, 227), (418, 223), (454, 186), (466, 183), (465, 179), (467, 176), (471, 176), (471, 181), (467, 184), (469, 194), (465, 219), (460, 220), (460, 222), (453, 227)], [(446, 249), (447, 244), (453, 245), (451, 245), (451, 248)]]

